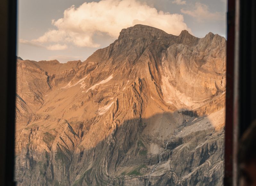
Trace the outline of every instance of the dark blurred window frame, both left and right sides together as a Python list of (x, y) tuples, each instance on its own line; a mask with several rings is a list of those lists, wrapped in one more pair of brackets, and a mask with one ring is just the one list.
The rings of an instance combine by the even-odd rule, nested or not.
[[(228, 0), (227, 84), (224, 185), (238, 185), (239, 138), (256, 118), (256, 2)], [(0, 6), (1, 99), (0, 185), (15, 185), (14, 133), (16, 96), (17, 1)]]

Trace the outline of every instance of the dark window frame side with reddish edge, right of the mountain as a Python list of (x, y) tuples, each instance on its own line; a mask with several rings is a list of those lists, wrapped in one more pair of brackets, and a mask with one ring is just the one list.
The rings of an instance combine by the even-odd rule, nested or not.
[(228, 0), (224, 185), (238, 185), (238, 142), (256, 118), (256, 2)]

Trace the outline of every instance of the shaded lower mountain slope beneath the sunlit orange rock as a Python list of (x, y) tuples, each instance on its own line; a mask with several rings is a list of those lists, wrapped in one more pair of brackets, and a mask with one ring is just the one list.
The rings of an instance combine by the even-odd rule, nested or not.
[(76, 140), (69, 140), (76, 148), (63, 137), (48, 133), (42, 140), (62, 142), (56, 142), (56, 149), (42, 146), (39, 150), (32, 142), (39, 138), (32, 131), (40, 129), (30, 129), (30, 140), (16, 157), (18, 185), (146, 185), (156, 164), (148, 185), (222, 185), (224, 131), (215, 130), (211, 114), (198, 116), (184, 110), (169, 114), (179, 114), (182, 122), (175, 130), (173, 126), (165, 128), (170, 134), (164, 140), (154, 131), (145, 132), (147, 123), (137, 118), (112, 124), (111, 134), (90, 149), (79, 145), (83, 137), (74, 130)]

